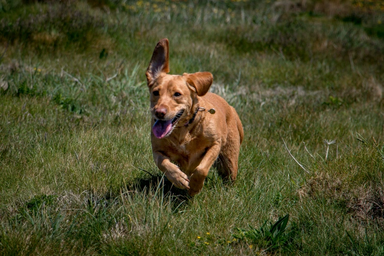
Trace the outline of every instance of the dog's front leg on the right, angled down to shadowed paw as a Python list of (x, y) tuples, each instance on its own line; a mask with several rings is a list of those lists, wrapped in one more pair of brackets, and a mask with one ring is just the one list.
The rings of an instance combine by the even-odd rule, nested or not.
[(190, 189), (188, 190), (190, 196), (198, 194), (203, 189), (205, 177), (208, 175), (209, 169), (219, 156), (220, 149), (220, 143), (216, 143), (206, 151), (203, 160), (191, 175), (191, 180), (189, 182)]

